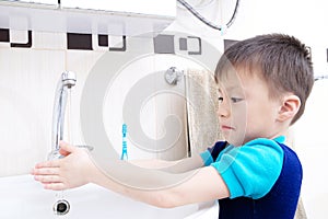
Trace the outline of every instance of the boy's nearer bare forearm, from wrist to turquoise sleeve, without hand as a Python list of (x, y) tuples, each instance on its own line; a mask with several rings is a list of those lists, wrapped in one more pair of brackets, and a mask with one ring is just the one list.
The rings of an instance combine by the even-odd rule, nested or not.
[(175, 186), (149, 191), (127, 187), (113, 181), (101, 172), (96, 173), (97, 176), (93, 177), (93, 183), (132, 199), (161, 208), (174, 208), (188, 204), (226, 198), (230, 196), (230, 192), (224, 181), (212, 166), (199, 169), (190, 177), (185, 178)]

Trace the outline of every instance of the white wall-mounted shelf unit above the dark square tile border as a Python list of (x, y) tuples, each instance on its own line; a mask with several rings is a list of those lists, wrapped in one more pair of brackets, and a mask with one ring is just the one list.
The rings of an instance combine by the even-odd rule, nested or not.
[[(134, 1), (136, 4), (136, 0), (124, 1)], [(101, 10), (95, 9), (95, 7), (86, 9), (87, 4), (85, 8), (69, 8), (74, 4), (63, 4), (63, 1), (61, 1), (61, 5), (0, 1), (0, 28), (127, 36), (156, 35), (174, 21), (175, 0), (155, 1), (156, 10), (151, 9), (151, 5), (148, 4), (149, 0), (141, 0), (139, 3), (143, 1), (145, 3), (143, 8), (148, 7), (149, 13), (145, 13), (143, 8), (143, 11), (133, 11), (132, 9), (110, 11), (107, 8)], [(165, 4), (166, 8), (169, 8), (159, 11), (159, 4)]]

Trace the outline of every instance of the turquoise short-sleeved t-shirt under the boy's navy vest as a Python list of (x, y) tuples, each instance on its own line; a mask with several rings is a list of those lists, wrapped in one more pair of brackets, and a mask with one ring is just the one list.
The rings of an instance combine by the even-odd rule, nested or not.
[[(227, 146), (213, 161), (209, 150), (200, 153), (206, 166), (211, 165), (225, 182), (230, 198), (250, 197), (258, 199), (270, 192), (283, 164), (284, 137), (273, 140), (258, 138), (244, 146)], [(278, 141), (278, 142), (277, 142)]]

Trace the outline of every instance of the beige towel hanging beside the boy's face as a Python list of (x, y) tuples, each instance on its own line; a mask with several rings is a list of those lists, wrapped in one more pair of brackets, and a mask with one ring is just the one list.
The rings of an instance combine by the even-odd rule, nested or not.
[(188, 135), (191, 154), (198, 154), (220, 138), (216, 84), (206, 70), (185, 71)]

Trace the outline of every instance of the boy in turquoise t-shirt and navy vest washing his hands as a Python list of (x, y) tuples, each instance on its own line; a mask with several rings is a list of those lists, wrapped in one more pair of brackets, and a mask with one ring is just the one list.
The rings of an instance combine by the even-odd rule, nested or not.
[[(91, 182), (166, 208), (219, 199), (220, 219), (292, 219), (302, 165), (283, 142), (289, 127), (303, 114), (314, 83), (311, 54), (291, 36), (256, 36), (226, 49), (215, 81), (226, 141), (178, 163), (150, 161), (151, 166), (177, 175), (197, 170), (187, 181), (163, 189), (127, 186), (99, 171), (86, 151), (63, 142), (61, 153), (67, 157), (39, 163), (32, 174), (47, 189)], [(156, 178), (155, 173), (151, 176), (144, 181)]]

